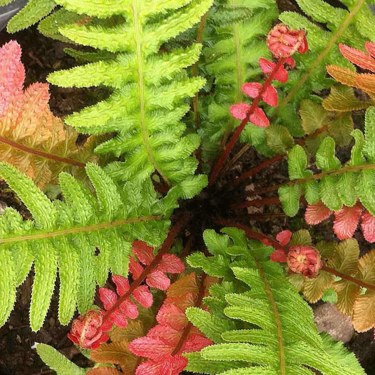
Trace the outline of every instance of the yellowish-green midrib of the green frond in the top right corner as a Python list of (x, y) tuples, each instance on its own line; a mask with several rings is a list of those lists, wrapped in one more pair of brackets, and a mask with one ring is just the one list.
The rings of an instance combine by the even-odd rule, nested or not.
[(278, 105), (276, 110), (274, 111), (272, 118), (274, 118), (280, 110), (289, 102), (289, 100), (293, 97), (293, 95), (297, 92), (299, 87), (301, 87), (304, 82), (307, 80), (307, 78), (310, 76), (312, 71), (321, 63), (321, 61), (325, 58), (333, 44), (336, 43), (337, 39), (341, 36), (342, 32), (345, 30), (345, 28), (350, 23), (353, 16), (356, 14), (356, 12), (360, 9), (362, 6), (364, 0), (358, 0), (357, 3), (353, 6), (351, 11), (349, 11), (349, 14), (346, 16), (344, 21), (341, 23), (340, 27), (337, 28), (337, 30), (333, 33), (332, 37), (329, 39), (327, 45), (325, 48), (321, 51), (321, 53), (316, 57), (313, 64), (308, 68), (308, 70), (303, 74), (303, 76), (298, 80), (298, 82), (295, 84), (295, 86), (289, 91), (289, 93), (286, 95), (286, 97), (281, 101), (281, 103)]

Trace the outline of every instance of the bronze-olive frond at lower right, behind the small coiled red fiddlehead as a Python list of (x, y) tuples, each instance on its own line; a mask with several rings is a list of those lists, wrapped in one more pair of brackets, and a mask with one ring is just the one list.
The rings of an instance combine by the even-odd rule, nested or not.
[[(290, 244), (296, 243), (312, 245), (307, 230), (302, 229), (291, 235)], [(359, 246), (354, 238), (339, 243), (320, 241), (314, 247), (322, 259), (320, 272), (313, 278), (290, 274), (287, 276), (289, 281), (311, 303), (315, 303), (325, 290), (333, 287), (338, 310), (351, 315), (355, 330), (362, 332), (372, 328), (375, 325), (371, 307), (375, 303), (375, 251), (358, 258)]]

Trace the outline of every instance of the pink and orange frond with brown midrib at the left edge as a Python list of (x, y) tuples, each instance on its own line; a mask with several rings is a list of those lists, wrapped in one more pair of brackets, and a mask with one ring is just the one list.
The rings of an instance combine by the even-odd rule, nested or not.
[(85, 179), (83, 161), (97, 160), (94, 137), (82, 147), (75, 145), (76, 131), (49, 110), (48, 84), (36, 82), (22, 90), (25, 71), (17, 42), (4, 44), (0, 56), (0, 161), (14, 165), (42, 189), (56, 182), (61, 170)]

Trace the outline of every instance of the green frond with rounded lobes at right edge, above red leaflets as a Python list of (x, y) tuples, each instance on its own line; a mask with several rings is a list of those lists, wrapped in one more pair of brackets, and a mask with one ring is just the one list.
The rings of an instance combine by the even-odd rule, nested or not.
[(365, 116), (365, 134), (352, 131), (355, 143), (347, 165), (341, 166), (335, 156), (335, 142), (325, 137), (316, 152), (316, 166), (321, 173), (313, 175), (307, 167), (305, 150), (294, 146), (288, 153), (289, 182), (278, 189), (284, 212), (294, 216), (299, 209), (302, 189), (308, 203), (319, 199), (331, 210), (337, 211), (344, 204), (353, 206), (357, 199), (375, 214), (375, 107), (369, 107)]

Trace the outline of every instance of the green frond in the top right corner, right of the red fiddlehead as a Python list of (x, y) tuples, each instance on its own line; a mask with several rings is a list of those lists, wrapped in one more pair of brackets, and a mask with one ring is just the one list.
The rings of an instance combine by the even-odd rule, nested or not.
[[(350, 45), (356, 48), (364, 49), (366, 40), (375, 40), (373, 32), (370, 31), (375, 27), (375, 17), (365, 1), (361, 1), (362, 5), (348, 20), (348, 24), (344, 23), (349, 14), (346, 9), (333, 7), (323, 0), (296, 0), (296, 2), (312, 19), (311, 21), (299, 13), (290, 11), (281, 13), (279, 18), (290, 28), (304, 28), (307, 31), (309, 51), (305, 55), (295, 55), (296, 69), (289, 73), (288, 82), (282, 85), (282, 91), (292, 96), (288, 96), (288, 103), (284, 103), (282, 92), (279, 91), (280, 105), (276, 111), (277, 120), (285, 125), (293, 136), (302, 136), (300, 119), (293, 108), (298, 107), (300, 100), (307, 98), (311, 91), (332, 85), (333, 80), (326, 77), (326, 64), (353, 69), (353, 66), (341, 56), (337, 43), (351, 43)], [(358, 1), (346, 2), (348, 9), (352, 10), (354, 7), (356, 9)], [(313, 21), (326, 24), (326, 28)], [(332, 37), (335, 40), (329, 47)], [(320, 59), (319, 56), (325, 54), (326, 48), (328, 48), (326, 55)], [(303, 84), (300, 84), (302, 79)]]

